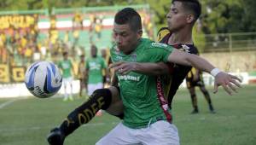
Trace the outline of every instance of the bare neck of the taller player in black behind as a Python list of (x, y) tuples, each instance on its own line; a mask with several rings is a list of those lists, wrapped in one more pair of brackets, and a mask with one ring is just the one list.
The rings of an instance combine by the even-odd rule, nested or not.
[(179, 32), (172, 32), (168, 44), (193, 44), (192, 31), (183, 29)]

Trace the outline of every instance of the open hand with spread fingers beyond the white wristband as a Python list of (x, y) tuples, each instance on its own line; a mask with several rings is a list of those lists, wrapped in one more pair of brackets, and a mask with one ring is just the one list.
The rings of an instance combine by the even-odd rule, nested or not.
[(229, 93), (230, 96), (231, 96), (233, 91), (237, 92), (236, 91), (236, 86), (241, 87), (240, 83), (241, 83), (240, 78), (237, 78), (236, 76), (228, 74), (228, 73), (220, 72), (215, 77), (213, 93), (217, 93), (218, 92), (218, 86), (222, 85), (224, 90), (227, 93)]

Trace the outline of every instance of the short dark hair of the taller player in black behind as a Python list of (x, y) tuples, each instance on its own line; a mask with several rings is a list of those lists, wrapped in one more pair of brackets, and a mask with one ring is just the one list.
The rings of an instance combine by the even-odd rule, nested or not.
[(198, 0), (172, 0), (174, 2), (181, 2), (184, 9), (189, 9), (195, 14), (195, 20), (201, 15), (201, 3)]

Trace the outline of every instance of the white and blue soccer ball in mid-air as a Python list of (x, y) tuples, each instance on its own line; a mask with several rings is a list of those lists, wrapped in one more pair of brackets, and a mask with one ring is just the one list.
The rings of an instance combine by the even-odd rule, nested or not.
[(49, 61), (34, 62), (26, 70), (26, 88), (39, 98), (54, 96), (61, 89), (60, 70)]

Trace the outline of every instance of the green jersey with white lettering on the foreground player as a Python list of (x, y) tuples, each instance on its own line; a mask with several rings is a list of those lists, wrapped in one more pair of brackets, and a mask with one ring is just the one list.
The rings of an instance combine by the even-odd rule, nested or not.
[[(110, 53), (113, 62), (166, 62), (172, 53), (172, 46), (142, 38), (130, 55), (125, 55), (116, 46), (113, 46)], [(160, 77), (135, 72), (116, 75), (125, 107), (124, 125), (143, 128), (159, 119), (172, 121)]]

